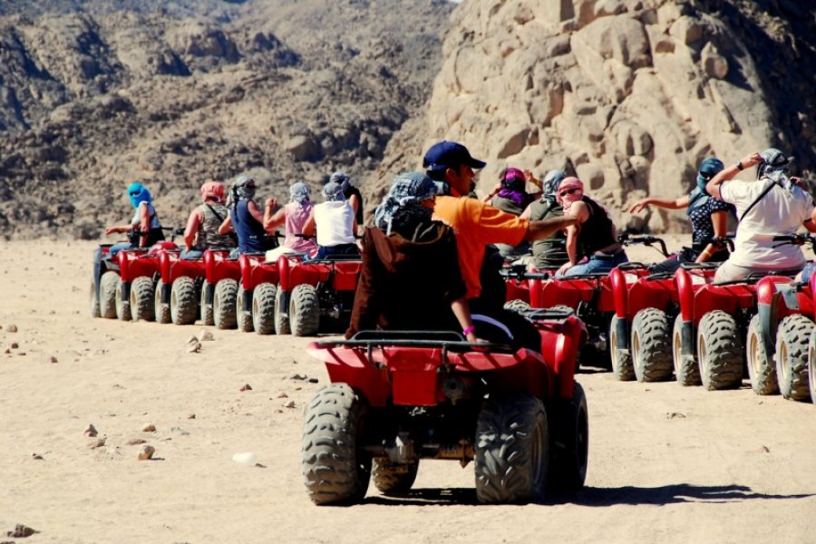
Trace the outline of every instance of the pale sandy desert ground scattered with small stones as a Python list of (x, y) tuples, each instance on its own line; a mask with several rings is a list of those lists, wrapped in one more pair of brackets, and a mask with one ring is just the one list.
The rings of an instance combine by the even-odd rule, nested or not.
[[(326, 374), (308, 340), (211, 329), (193, 354), (200, 325), (92, 319), (91, 251), (0, 244), (0, 542), (816, 542), (816, 407), (606, 372), (578, 376), (591, 443), (577, 494), (481, 506), (472, 466), (423, 461), (408, 497), (372, 485), (362, 505), (318, 508), (300, 432)], [(4, 538), (18, 523), (40, 532)]]

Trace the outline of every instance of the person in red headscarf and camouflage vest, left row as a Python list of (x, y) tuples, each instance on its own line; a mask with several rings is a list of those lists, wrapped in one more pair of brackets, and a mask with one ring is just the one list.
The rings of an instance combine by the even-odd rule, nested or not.
[(186, 250), (181, 254), (184, 259), (196, 259), (204, 255), (205, 249), (229, 251), (235, 248), (235, 239), (229, 235), (219, 234), (219, 227), (228, 215), (223, 202), (226, 189), (223, 183), (208, 181), (201, 186), (201, 204), (193, 209), (184, 229)]

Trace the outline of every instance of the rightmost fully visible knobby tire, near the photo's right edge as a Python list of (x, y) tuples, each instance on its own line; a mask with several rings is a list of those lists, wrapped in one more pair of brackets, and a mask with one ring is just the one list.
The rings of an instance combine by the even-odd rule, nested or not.
[(782, 319), (776, 333), (776, 379), (782, 397), (793, 401), (811, 399), (808, 379), (808, 343), (813, 322), (801, 314)]

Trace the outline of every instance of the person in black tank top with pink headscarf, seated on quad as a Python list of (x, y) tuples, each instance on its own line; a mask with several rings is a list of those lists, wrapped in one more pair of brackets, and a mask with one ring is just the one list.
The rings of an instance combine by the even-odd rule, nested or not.
[[(584, 194), (584, 183), (578, 178), (564, 178), (559, 183), (557, 199), (565, 217), (578, 219), (567, 228), (568, 262), (561, 265), (557, 277), (606, 272), (627, 262), (627, 252), (617, 242), (617, 228), (606, 208)], [(584, 257), (583, 260), (581, 257)]]

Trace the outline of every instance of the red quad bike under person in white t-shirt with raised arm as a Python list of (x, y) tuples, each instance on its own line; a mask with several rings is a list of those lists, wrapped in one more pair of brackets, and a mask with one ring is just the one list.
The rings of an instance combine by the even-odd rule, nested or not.
[(744, 340), (757, 314), (757, 282), (767, 277), (764, 288), (773, 288), (790, 283), (797, 272), (712, 283), (713, 276), (692, 275), (692, 269), (681, 267), (675, 273), (680, 301), (672, 335), (675, 377), (681, 385), (702, 383), (709, 391), (737, 388), (743, 383)]

